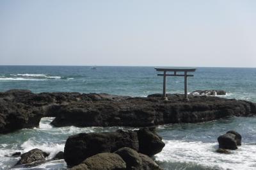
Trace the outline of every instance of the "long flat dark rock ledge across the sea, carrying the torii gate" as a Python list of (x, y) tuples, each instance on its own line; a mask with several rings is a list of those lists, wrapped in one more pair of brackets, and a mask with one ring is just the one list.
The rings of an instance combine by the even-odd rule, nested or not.
[(196, 123), (228, 116), (249, 116), (256, 105), (244, 100), (183, 95), (120, 97), (108, 94), (31, 93), (10, 90), (0, 93), (0, 134), (38, 127), (45, 116), (56, 117), (52, 125), (63, 127), (149, 127), (165, 123)]

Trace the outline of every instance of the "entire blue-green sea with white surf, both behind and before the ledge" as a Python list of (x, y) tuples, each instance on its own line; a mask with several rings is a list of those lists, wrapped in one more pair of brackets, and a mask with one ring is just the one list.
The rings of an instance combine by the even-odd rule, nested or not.
[[(109, 93), (147, 97), (162, 93), (163, 77), (150, 66), (0, 66), (0, 91), (29, 89), (41, 92)], [(188, 91), (221, 89), (225, 98), (256, 102), (256, 68), (197, 68), (188, 78)], [(168, 93), (184, 93), (183, 77), (167, 77)], [(39, 148), (51, 159), (63, 151), (69, 135), (106, 132), (129, 127), (52, 127), (54, 118), (42, 118), (40, 126), (0, 135), (0, 169), (10, 169), (19, 158), (8, 157)], [(242, 146), (231, 154), (216, 153), (217, 138), (236, 130)], [(256, 117), (227, 118), (205, 123), (161, 125), (157, 132), (166, 146), (154, 156), (163, 169), (256, 169)], [(67, 169), (64, 160), (47, 162), (33, 169)]]

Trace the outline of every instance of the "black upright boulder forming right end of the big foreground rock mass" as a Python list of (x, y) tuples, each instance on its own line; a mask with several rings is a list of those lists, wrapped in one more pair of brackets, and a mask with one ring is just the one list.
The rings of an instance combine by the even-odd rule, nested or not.
[[(154, 130), (154, 128), (153, 128)], [(141, 128), (137, 131), (139, 139), (139, 152), (148, 156), (156, 155), (161, 152), (165, 146), (161, 137), (159, 137), (154, 131), (150, 131), (150, 128)]]

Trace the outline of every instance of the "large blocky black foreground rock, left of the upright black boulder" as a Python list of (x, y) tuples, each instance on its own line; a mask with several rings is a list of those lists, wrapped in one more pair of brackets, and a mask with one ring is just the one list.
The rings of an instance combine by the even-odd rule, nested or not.
[(64, 159), (68, 166), (74, 166), (97, 153), (114, 152), (123, 147), (139, 150), (136, 132), (118, 130), (116, 132), (71, 135), (65, 143)]

